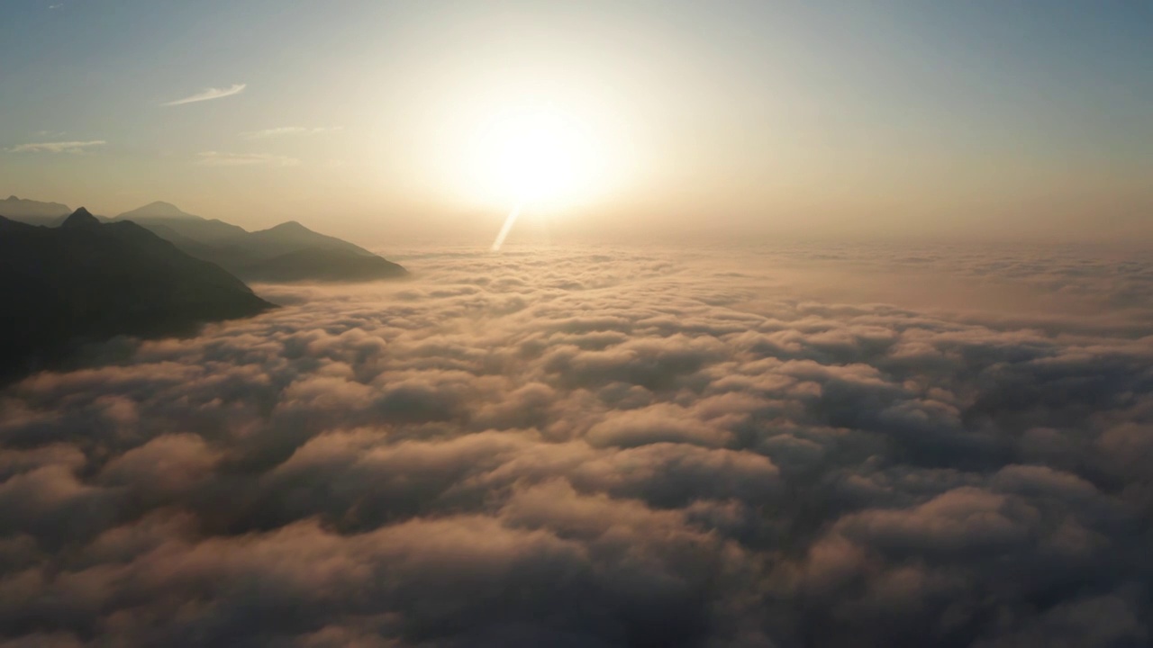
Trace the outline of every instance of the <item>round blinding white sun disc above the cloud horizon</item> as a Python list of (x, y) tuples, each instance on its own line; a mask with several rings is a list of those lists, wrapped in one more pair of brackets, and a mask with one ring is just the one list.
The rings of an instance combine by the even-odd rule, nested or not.
[(551, 107), (505, 111), (483, 125), (474, 168), (488, 193), (511, 205), (558, 208), (595, 190), (602, 164), (594, 134)]

